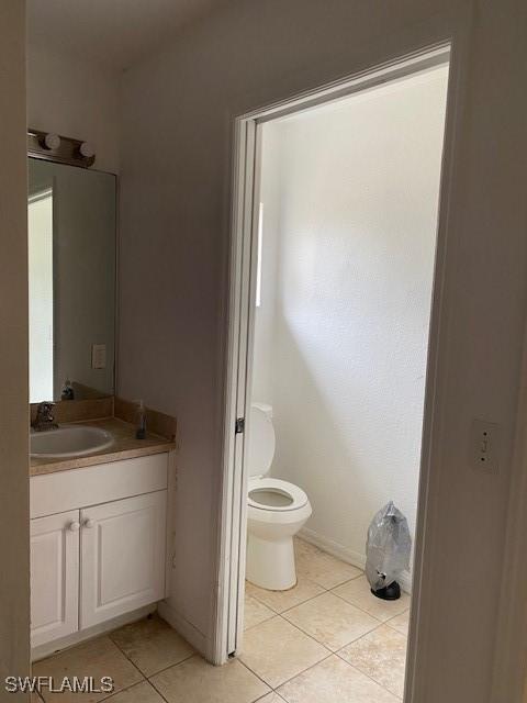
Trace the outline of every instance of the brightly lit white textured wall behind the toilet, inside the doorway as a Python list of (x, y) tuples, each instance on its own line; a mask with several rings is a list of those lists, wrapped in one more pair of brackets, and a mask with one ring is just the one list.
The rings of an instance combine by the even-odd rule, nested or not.
[(415, 534), (447, 80), (264, 125), (253, 398), (273, 405), (271, 473), (307, 492), (309, 538), (357, 566), (389, 500)]

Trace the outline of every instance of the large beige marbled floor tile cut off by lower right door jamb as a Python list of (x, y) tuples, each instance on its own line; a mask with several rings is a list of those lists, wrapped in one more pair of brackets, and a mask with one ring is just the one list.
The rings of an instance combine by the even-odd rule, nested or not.
[(406, 637), (381, 625), (338, 652), (339, 657), (403, 698), (406, 669)]

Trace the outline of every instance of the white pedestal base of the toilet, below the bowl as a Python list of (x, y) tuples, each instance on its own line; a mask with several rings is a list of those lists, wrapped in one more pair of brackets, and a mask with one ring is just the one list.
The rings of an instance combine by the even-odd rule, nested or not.
[(249, 533), (246, 578), (269, 591), (287, 591), (296, 585), (293, 538), (271, 542)]

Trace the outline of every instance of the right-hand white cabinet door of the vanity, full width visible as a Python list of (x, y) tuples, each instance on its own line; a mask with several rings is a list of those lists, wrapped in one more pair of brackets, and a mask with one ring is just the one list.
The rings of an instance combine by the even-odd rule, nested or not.
[(81, 511), (80, 626), (165, 596), (167, 491)]

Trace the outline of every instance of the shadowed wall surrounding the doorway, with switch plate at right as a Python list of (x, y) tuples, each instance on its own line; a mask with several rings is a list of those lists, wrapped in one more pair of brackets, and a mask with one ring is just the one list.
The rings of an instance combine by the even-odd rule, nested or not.
[[(119, 386), (178, 416), (170, 605), (208, 654), (218, 591), (232, 119), (455, 35), (462, 66), (411, 660), (415, 701), (489, 700), (527, 302), (527, 110), (517, 89), (526, 12), (515, 0), (244, 1), (124, 76), (122, 138), (134, 148), (122, 160)], [(474, 416), (502, 426), (497, 475), (468, 461)]]

